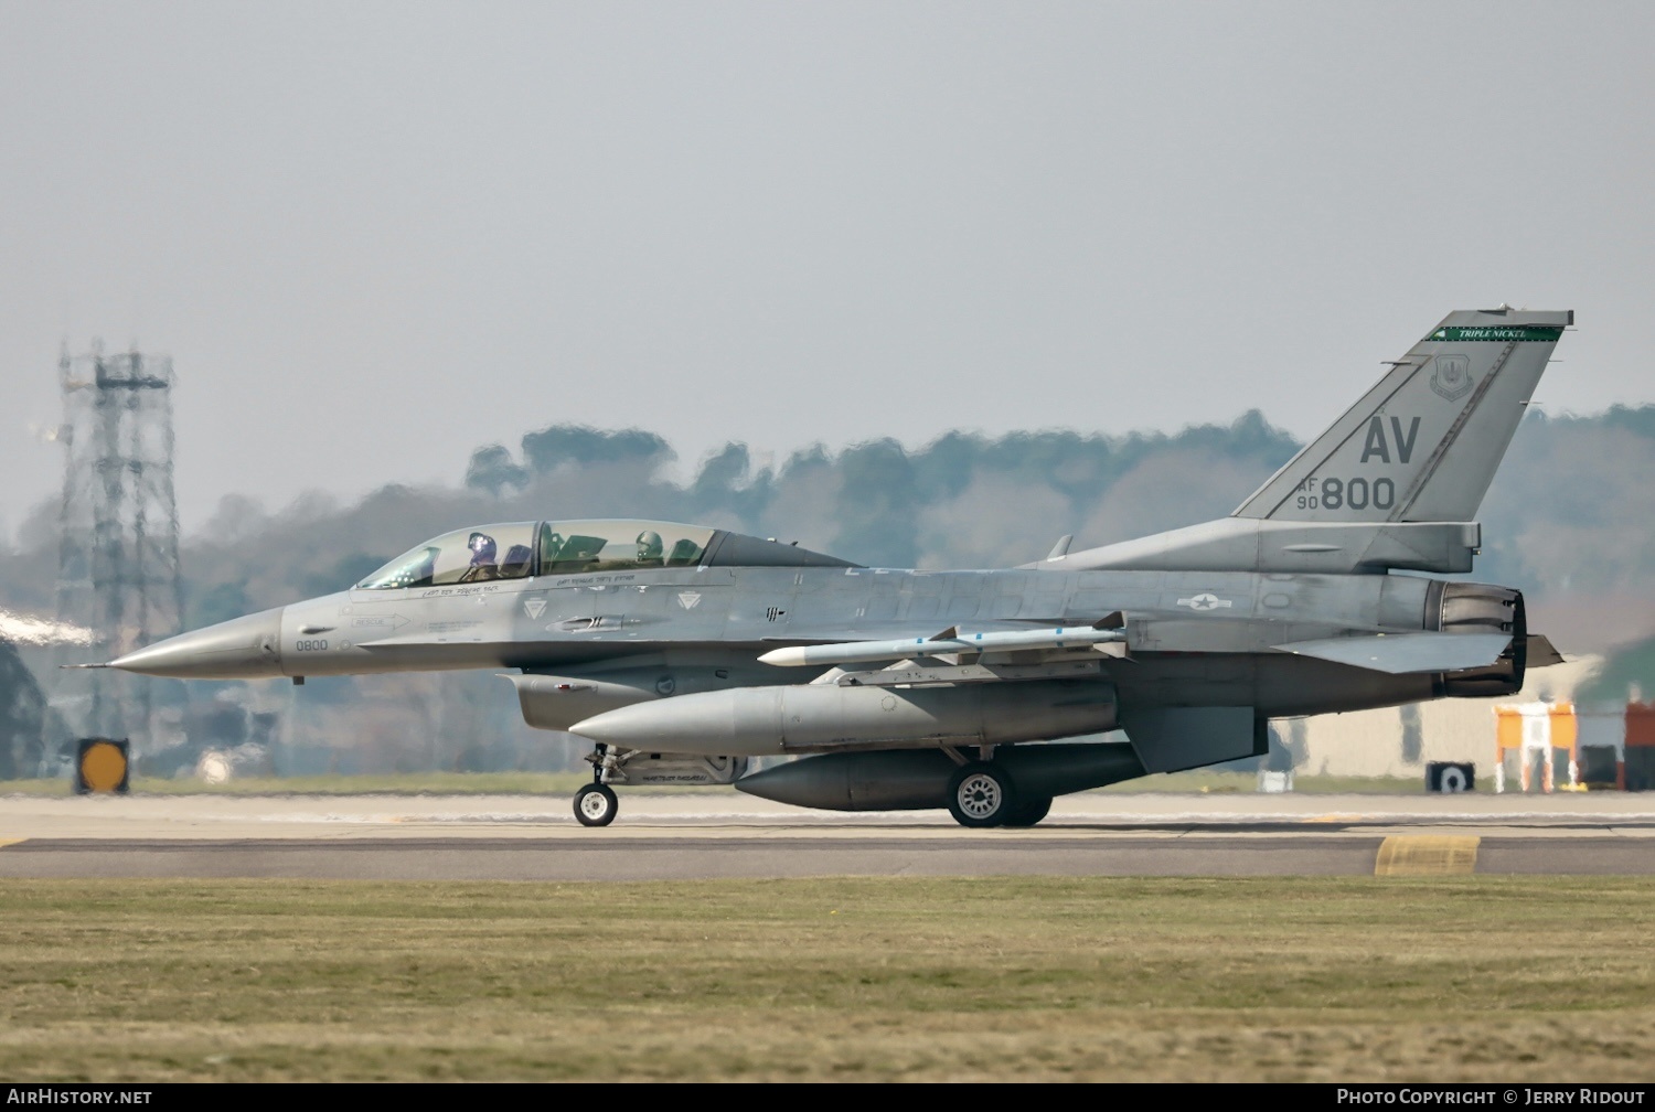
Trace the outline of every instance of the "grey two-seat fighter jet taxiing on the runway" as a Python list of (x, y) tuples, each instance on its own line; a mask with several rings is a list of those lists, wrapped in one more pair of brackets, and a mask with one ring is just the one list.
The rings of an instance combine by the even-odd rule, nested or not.
[[(670, 521), (511, 521), (108, 667), (258, 678), (506, 669), (616, 786), (1033, 826), (1053, 798), (1268, 748), (1271, 718), (1509, 695), (1561, 657), (1471, 571), (1572, 311), (1450, 313), (1216, 521), (1006, 569), (864, 568)], [(755, 758), (765, 760), (756, 768)]]

